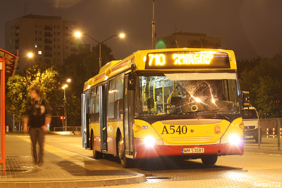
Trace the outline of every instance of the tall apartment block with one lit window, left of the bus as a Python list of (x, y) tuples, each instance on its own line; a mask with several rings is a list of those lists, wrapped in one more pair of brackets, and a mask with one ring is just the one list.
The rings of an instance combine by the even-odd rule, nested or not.
[[(19, 50), (19, 71), (38, 61), (63, 64), (73, 53), (90, 52), (90, 44), (78, 44), (74, 35), (76, 30), (77, 21), (66, 21), (56, 16), (26, 15), (5, 23), (5, 50), (13, 54)], [(29, 53), (33, 56), (29, 57)]]

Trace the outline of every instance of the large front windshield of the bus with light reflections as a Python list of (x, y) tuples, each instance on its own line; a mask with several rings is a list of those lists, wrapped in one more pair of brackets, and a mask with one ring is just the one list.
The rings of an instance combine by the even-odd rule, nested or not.
[(172, 73), (140, 76), (140, 107), (136, 115), (208, 112), (240, 114), (236, 73)]

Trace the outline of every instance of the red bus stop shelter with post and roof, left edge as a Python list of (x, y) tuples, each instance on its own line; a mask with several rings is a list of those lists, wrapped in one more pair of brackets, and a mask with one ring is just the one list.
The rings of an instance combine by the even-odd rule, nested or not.
[(1, 106), (1, 129), (0, 129), (0, 143), (1, 143), (1, 155), (0, 164), (3, 164), (3, 169), (6, 170), (6, 156), (5, 156), (5, 78), (14, 76), (18, 65), (18, 52), (17, 56), (7, 52), (0, 48), (0, 106)]

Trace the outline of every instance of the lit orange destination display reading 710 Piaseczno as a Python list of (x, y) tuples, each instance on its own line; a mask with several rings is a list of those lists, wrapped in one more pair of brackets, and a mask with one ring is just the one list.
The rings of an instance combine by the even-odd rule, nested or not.
[(230, 68), (226, 52), (172, 51), (148, 53), (145, 69), (215, 69)]

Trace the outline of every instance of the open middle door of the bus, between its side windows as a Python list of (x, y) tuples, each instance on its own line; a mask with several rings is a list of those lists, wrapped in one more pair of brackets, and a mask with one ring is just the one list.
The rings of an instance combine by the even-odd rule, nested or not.
[(99, 96), (100, 96), (100, 139), (101, 139), (101, 151), (102, 153), (107, 152), (107, 127), (106, 127), (106, 94), (105, 88), (107, 84), (99, 86)]

